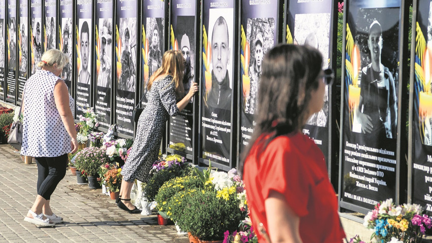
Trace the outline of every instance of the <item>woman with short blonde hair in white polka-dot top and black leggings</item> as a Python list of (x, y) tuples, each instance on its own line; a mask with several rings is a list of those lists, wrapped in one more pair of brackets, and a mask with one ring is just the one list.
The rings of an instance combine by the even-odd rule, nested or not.
[(74, 126), (74, 100), (59, 78), (69, 57), (51, 49), (42, 55), (38, 70), (25, 85), (21, 111), (24, 114), (21, 155), (35, 157), (38, 165), (38, 195), (24, 221), (39, 226), (63, 222), (50, 207), (50, 197), (66, 174), (68, 153), (78, 148)]

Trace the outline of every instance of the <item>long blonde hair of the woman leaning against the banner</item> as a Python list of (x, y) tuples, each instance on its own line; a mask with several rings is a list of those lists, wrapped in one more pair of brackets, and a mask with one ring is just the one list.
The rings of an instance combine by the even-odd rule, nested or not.
[(148, 80), (147, 90), (150, 90), (151, 85), (160, 76), (171, 75), (173, 79), (171, 82), (175, 83), (175, 94), (180, 98), (184, 94), (183, 88), (183, 55), (179, 50), (170, 50), (164, 53), (162, 57), (162, 66), (151, 75)]

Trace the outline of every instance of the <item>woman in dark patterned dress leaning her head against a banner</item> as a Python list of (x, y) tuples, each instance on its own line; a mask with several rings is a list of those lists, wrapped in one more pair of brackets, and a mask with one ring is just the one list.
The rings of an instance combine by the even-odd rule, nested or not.
[[(151, 165), (158, 159), (165, 123), (169, 116), (184, 109), (198, 90), (194, 83), (183, 97), (184, 60), (180, 51), (167, 51), (162, 57), (162, 67), (150, 77), (146, 94), (148, 103), (138, 120), (137, 134), (128, 161), (121, 170), (118, 207), (130, 214), (139, 214), (131, 203), (131, 189), (135, 179), (148, 181)], [(183, 97), (178, 103), (177, 99)]]

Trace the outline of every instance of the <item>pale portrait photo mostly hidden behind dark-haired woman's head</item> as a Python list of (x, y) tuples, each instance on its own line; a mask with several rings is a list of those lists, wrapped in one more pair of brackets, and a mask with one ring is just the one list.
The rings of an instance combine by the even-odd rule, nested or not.
[[(317, 48), (323, 55), (323, 69), (329, 66), (330, 13), (296, 14), (294, 43)], [(326, 127), (328, 120), (328, 86), (323, 108), (307, 120), (308, 125)]]

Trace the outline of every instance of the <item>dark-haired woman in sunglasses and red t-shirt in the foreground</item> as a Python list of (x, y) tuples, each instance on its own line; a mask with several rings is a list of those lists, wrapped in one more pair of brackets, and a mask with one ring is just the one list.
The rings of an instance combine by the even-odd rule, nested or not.
[(259, 242), (341, 242), (345, 237), (324, 156), (301, 133), (321, 110), (325, 85), (321, 53), (278, 45), (263, 60), (257, 125), (243, 154), (243, 180)]

